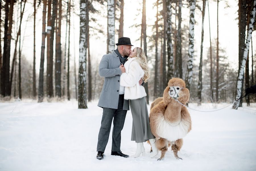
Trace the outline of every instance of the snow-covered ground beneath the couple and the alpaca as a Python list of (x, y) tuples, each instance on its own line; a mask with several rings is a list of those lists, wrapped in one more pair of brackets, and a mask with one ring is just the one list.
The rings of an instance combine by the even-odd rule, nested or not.
[[(189, 105), (210, 110), (228, 104)], [(178, 153), (183, 160), (176, 160), (169, 148), (165, 159), (157, 161), (160, 152), (155, 158), (111, 156), (112, 136), (104, 160), (97, 160), (102, 117), (97, 101), (89, 103), (88, 109), (77, 109), (74, 100), (0, 103), (0, 170), (256, 170), (256, 104), (252, 106), (209, 113), (189, 109), (192, 130)], [(129, 155), (136, 150), (131, 127), (128, 111), (121, 150)], [(150, 146), (144, 146), (149, 154)]]

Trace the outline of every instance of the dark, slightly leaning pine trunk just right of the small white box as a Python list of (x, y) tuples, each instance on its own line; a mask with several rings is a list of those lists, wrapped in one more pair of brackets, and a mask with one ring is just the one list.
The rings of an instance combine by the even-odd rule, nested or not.
[(57, 0), (52, 0), (49, 72), (47, 74), (47, 79), (48, 79), (48, 93), (47, 93), (47, 95), (48, 95), (48, 98), (53, 97), (53, 41), (54, 41), (56, 12), (57, 12)]

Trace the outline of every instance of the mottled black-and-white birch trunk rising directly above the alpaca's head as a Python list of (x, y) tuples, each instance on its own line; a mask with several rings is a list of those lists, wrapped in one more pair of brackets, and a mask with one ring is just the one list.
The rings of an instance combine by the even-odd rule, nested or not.
[(167, 22), (167, 82), (173, 77), (173, 47), (172, 47), (172, 1), (166, 1), (166, 22)]

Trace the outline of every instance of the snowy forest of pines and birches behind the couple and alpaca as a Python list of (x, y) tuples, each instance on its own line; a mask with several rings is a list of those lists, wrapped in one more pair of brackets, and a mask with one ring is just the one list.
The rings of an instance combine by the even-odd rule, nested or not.
[[(240, 93), (256, 82), (254, 21), (242, 64), (253, 3), (1, 0), (1, 101), (75, 98), (79, 108), (86, 108), (87, 100), (100, 96), (101, 57), (112, 53), (117, 39), (125, 36), (142, 47), (148, 59), (147, 103), (162, 96), (172, 77), (186, 81), (192, 103), (232, 103), (239, 68), (244, 67)], [(256, 98), (243, 100), (249, 105)]]

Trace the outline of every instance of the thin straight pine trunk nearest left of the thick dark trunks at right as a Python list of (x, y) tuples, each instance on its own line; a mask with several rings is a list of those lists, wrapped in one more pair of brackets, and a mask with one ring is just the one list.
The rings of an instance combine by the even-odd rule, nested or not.
[(219, 101), (219, 0), (217, 0), (216, 102)]

